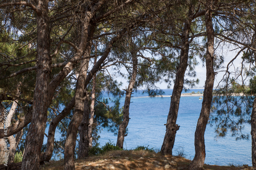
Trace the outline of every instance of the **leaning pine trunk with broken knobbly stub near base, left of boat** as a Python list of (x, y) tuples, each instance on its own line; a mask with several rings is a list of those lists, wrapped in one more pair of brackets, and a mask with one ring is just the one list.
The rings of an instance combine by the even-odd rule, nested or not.
[[(192, 13), (192, 5), (190, 5), (188, 16), (190, 16), (191, 13)], [(167, 117), (166, 133), (165, 133), (163, 145), (161, 148), (161, 153), (163, 155), (165, 154), (172, 155), (175, 135), (177, 130), (179, 130), (179, 127), (180, 127), (176, 124), (176, 121), (177, 121), (177, 116), (179, 111), (180, 95), (183, 90), (184, 75), (188, 66), (190, 25), (191, 25), (191, 19), (187, 18), (184, 25), (183, 35), (182, 35), (183, 50), (181, 50), (180, 52), (179, 67), (176, 72), (176, 79), (173, 87), (173, 93), (172, 93), (172, 98), (170, 102), (170, 109)]]

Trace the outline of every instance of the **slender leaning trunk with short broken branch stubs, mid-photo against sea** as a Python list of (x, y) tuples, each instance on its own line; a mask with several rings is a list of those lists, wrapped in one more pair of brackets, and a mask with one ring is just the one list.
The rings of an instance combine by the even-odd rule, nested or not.
[(128, 126), (129, 123), (129, 107), (130, 107), (130, 101), (131, 101), (131, 95), (133, 92), (133, 87), (136, 81), (136, 76), (137, 76), (137, 51), (133, 51), (131, 52), (132, 55), (132, 75), (131, 75), (131, 80), (130, 83), (128, 85), (128, 88), (125, 89), (125, 100), (124, 100), (124, 109), (123, 109), (123, 121), (119, 126), (118, 129), (118, 136), (117, 136), (117, 142), (116, 142), (116, 146), (118, 146), (119, 148), (123, 148), (123, 144), (124, 144), (124, 137), (125, 135), (125, 130), (126, 127)]

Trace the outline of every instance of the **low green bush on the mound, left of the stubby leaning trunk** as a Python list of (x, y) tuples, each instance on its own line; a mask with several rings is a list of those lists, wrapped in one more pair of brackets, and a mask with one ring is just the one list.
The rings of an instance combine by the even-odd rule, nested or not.
[(113, 150), (123, 150), (121, 148), (119, 148), (118, 146), (115, 146), (115, 144), (113, 142), (107, 142), (104, 146), (102, 146), (101, 148), (99, 147), (99, 144), (93, 146), (90, 150), (89, 150), (89, 155), (99, 155), (99, 154), (104, 154), (108, 151), (113, 151)]

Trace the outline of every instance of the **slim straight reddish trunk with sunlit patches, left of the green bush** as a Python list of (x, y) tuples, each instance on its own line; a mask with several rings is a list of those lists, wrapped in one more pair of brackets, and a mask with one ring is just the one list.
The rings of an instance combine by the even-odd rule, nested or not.
[[(97, 51), (97, 47), (95, 47), (95, 52)], [(95, 65), (97, 62), (97, 57), (94, 58), (93, 64)], [(88, 136), (89, 136), (89, 149), (92, 148), (92, 125), (94, 119), (94, 103), (95, 103), (95, 88), (96, 88), (96, 73), (93, 75), (92, 80), (92, 102), (91, 102), (91, 115), (89, 120), (89, 129), (88, 129)]]

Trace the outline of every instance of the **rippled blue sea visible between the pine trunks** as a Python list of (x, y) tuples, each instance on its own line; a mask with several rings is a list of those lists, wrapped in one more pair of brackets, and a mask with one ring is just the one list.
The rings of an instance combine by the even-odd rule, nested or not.
[[(198, 92), (204, 89), (189, 89), (182, 93)], [(133, 94), (130, 103), (130, 121), (127, 126), (128, 135), (124, 138), (124, 149), (134, 149), (137, 146), (161, 149), (165, 136), (167, 115), (170, 108), (172, 89), (164, 89), (163, 97), (148, 97), (140, 91)], [(203, 97), (203, 96), (202, 96)], [(121, 98), (120, 106), (124, 104), (125, 96)], [(111, 103), (110, 103), (111, 105)], [(183, 153), (187, 159), (193, 160), (195, 155), (194, 135), (197, 120), (200, 115), (202, 100), (198, 96), (182, 96), (176, 124), (180, 126), (176, 133), (173, 155)], [(48, 129), (48, 127), (47, 127)], [(46, 133), (47, 133), (46, 129)], [(243, 133), (250, 134), (250, 124), (245, 124)], [(57, 133), (58, 134), (58, 133)], [(55, 136), (58, 139), (58, 136)], [(116, 143), (117, 136), (108, 129), (102, 129), (99, 143)], [(45, 138), (44, 143), (47, 142)], [(225, 138), (216, 138), (215, 125), (207, 124), (205, 131), (205, 163), (210, 165), (243, 165), (252, 166), (251, 136), (249, 140), (235, 140), (231, 133)]]

